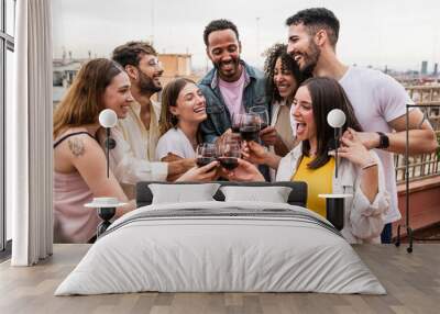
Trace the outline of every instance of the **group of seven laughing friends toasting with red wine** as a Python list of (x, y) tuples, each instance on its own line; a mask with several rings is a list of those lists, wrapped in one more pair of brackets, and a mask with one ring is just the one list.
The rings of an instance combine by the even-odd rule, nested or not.
[[(346, 66), (337, 56), (340, 23), (328, 9), (312, 8), (286, 20), (287, 43), (267, 49), (264, 71), (241, 57), (237, 26), (211, 21), (206, 52), (213, 64), (198, 83), (177, 78), (164, 88), (157, 53), (144, 42), (114, 48), (112, 58), (85, 64), (54, 114), (55, 242), (94, 239), (99, 218), (84, 204), (96, 197), (128, 202), (134, 210), (139, 181), (289, 181), (308, 184), (307, 208), (326, 215), (320, 193), (350, 193), (342, 231), (350, 243), (389, 243), (400, 218), (393, 153), (406, 146), (404, 87), (373, 69)], [(153, 96), (161, 92), (161, 102)], [(268, 126), (258, 141), (242, 141), (238, 167), (196, 165), (196, 147), (231, 137), (232, 116), (266, 106)], [(105, 132), (98, 122), (112, 109), (106, 176)], [(334, 147), (327, 115), (346, 121)], [(418, 109), (409, 112), (409, 153), (437, 149), (437, 138)], [(334, 149), (341, 158), (334, 173)]]

